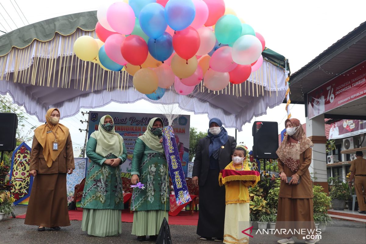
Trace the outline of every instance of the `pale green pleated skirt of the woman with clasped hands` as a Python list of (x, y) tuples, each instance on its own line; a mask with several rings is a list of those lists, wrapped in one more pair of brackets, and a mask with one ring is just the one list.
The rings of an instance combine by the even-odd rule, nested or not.
[(117, 236), (122, 233), (121, 210), (83, 209), (81, 229), (91, 236)]

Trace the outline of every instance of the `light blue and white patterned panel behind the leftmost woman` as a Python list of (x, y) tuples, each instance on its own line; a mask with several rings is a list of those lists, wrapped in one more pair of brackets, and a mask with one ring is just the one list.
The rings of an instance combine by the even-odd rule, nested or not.
[[(86, 173), (86, 161), (87, 158), (74, 158), (75, 169), (72, 174), (67, 174), (66, 176), (66, 191), (67, 191), (67, 202), (70, 203), (74, 199), (75, 185), (80, 184), (80, 182), (85, 178)], [(76, 203), (78, 206), (80, 203)]]

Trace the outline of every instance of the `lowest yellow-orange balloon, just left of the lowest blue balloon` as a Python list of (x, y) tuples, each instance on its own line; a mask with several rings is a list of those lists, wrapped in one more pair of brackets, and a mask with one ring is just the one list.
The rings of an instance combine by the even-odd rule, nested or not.
[(149, 68), (137, 71), (132, 79), (136, 90), (143, 94), (151, 94), (158, 89), (158, 76)]

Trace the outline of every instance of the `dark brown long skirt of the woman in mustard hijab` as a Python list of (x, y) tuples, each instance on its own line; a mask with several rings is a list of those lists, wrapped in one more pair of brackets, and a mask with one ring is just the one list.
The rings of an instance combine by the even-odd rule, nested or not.
[(34, 177), (24, 224), (48, 228), (70, 225), (66, 173)]

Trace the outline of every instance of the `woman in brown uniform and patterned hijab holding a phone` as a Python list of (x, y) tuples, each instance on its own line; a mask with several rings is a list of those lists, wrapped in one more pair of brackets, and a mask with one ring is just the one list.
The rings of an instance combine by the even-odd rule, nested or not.
[[(284, 237), (278, 243), (292, 244), (295, 243), (292, 236), (303, 240), (305, 235), (301, 234), (302, 229), (307, 229), (306, 234), (311, 234), (309, 231), (315, 229), (313, 187), (309, 173), (313, 143), (306, 137), (298, 119), (287, 119), (285, 128), (287, 136), (276, 152), (281, 177), (276, 229), (286, 229), (287, 232), (276, 232), (275, 235)], [(296, 233), (296, 230), (300, 233)], [(319, 240), (306, 240), (305, 243), (317, 241)]]

